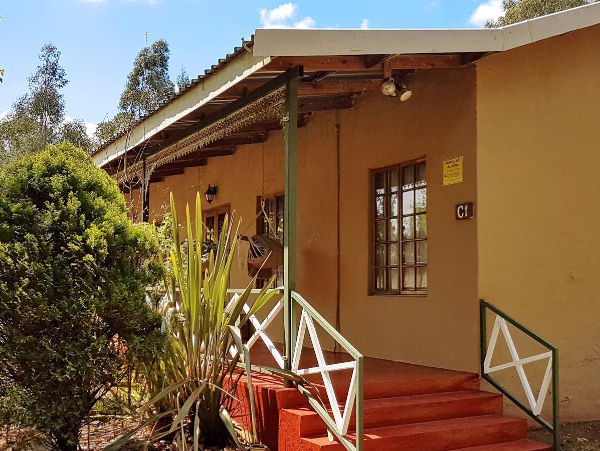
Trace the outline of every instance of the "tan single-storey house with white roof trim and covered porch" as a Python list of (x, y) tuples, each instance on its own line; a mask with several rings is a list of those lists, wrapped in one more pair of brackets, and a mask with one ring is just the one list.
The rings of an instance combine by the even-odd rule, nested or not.
[[(598, 55), (600, 4), (499, 29), (257, 29), (93, 158), (140, 220), (160, 221), (170, 192), (183, 205), (210, 186), (209, 228), (235, 210), (245, 234), (285, 240), (281, 362), (293, 367), (293, 291), (361, 354), (344, 367), (361, 378), (346, 389), (359, 437), (370, 427), (362, 356), (483, 373), (557, 432), (559, 406), (562, 421), (600, 412)], [(250, 280), (243, 267), (234, 278)], [(335, 355), (331, 333), (318, 336)], [(332, 421), (346, 437), (343, 413)], [(506, 437), (494, 440), (521, 440)], [(403, 449), (391, 443), (365, 447)]]

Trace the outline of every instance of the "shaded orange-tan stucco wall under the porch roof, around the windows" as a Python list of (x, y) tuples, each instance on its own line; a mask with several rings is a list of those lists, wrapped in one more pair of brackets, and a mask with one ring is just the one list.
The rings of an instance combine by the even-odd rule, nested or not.
[[(324, 112), (298, 134), (298, 291), (335, 324), (337, 148), (340, 125), (341, 333), (367, 356), (476, 371), (478, 298), (476, 220), (456, 221), (454, 206), (475, 202), (475, 70), (422, 71), (406, 103), (379, 93), (352, 110)], [(262, 186), (262, 145), (240, 146), (152, 185), (160, 213), (173, 190), (181, 205), (218, 185), (213, 205), (230, 203), (254, 233)], [(265, 149), (265, 191), (283, 190), (283, 134)], [(464, 182), (442, 186), (442, 161), (464, 156)], [(425, 156), (428, 186), (427, 296), (368, 296), (370, 169)], [(233, 282), (247, 281), (240, 273)], [(331, 347), (331, 342), (325, 341)]]

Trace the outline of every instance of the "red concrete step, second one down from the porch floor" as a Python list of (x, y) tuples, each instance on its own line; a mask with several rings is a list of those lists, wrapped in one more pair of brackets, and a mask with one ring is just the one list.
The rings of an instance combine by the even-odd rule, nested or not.
[[(352, 435), (350, 435), (352, 438)], [(446, 451), (527, 438), (527, 421), (506, 415), (481, 415), (365, 430), (365, 451)], [(326, 435), (302, 438), (305, 451), (343, 451)], [(485, 447), (483, 448), (485, 449)]]

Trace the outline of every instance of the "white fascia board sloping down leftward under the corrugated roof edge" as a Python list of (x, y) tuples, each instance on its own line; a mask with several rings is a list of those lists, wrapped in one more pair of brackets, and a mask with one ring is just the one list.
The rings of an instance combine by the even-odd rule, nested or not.
[(223, 94), (227, 89), (269, 64), (269, 62), (271, 62), (269, 57), (253, 56), (250, 52), (242, 53), (232, 61), (227, 62), (217, 73), (206, 77), (206, 79), (135, 125), (131, 130), (128, 142), (126, 142), (125, 136), (120, 136), (115, 141), (98, 149), (92, 157), (94, 163), (98, 166), (104, 166), (115, 161), (125, 154), (126, 146), (127, 149), (131, 149), (134, 146), (143, 144), (164, 128), (208, 103), (218, 95)]

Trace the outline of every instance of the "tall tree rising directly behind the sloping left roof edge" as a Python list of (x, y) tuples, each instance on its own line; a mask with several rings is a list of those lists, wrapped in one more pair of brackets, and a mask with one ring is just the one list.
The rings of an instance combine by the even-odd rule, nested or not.
[(119, 111), (115, 118), (98, 124), (95, 133), (98, 140), (104, 142), (114, 134), (129, 130), (137, 119), (175, 92), (175, 85), (169, 79), (170, 54), (169, 44), (163, 40), (155, 41), (137, 53), (119, 98)]

